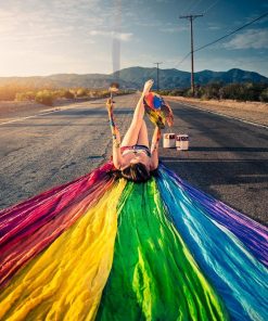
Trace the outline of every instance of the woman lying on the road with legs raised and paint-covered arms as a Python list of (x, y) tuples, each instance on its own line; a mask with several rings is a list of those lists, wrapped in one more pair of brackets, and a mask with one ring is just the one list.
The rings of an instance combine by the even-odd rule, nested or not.
[[(146, 112), (155, 113), (158, 108), (167, 112), (166, 121), (168, 126), (173, 125), (173, 112), (164, 100), (150, 92), (153, 80), (144, 84), (143, 92), (133, 113), (132, 121), (127, 133), (120, 142), (120, 133), (115, 125), (113, 117), (113, 102), (110, 99), (106, 106), (109, 112), (110, 125), (113, 133), (113, 163), (118, 169), (117, 174), (128, 180), (136, 182), (145, 182), (150, 179), (152, 172), (158, 167), (158, 142), (161, 138), (161, 128), (165, 127), (165, 116), (159, 112), (156, 117), (151, 115), (151, 120), (156, 123), (151, 149), (149, 147), (149, 137), (146, 124), (143, 119), (144, 106)], [(161, 115), (162, 114), (162, 115)], [(156, 120), (156, 121), (155, 121)]]

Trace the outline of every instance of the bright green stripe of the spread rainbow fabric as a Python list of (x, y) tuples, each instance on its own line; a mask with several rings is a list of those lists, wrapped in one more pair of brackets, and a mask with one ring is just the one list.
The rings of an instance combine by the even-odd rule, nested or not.
[(155, 180), (129, 182), (97, 320), (227, 320), (219, 297), (166, 218)]

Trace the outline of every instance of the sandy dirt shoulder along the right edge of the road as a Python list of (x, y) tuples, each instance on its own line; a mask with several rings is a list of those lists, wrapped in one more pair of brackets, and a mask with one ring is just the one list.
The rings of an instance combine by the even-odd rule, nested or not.
[(166, 97), (167, 100), (174, 100), (190, 105), (197, 106), (212, 112), (217, 112), (241, 118), (247, 121), (268, 126), (268, 104), (259, 102), (237, 102), (232, 100), (200, 100), (183, 97)]

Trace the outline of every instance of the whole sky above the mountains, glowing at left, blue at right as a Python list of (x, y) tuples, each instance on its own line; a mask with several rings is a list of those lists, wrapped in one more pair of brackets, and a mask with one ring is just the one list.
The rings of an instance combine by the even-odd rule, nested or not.
[[(267, 0), (0, 0), (0, 77), (111, 74), (131, 66), (190, 72), (194, 48), (268, 12)], [(268, 16), (194, 54), (195, 72), (268, 77)]]

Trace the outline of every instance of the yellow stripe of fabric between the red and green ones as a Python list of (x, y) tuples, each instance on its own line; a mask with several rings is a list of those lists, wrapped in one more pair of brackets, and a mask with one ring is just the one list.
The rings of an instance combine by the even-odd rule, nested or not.
[(10, 281), (1, 320), (92, 320), (106, 283), (126, 182), (107, 191), (69, 230)]

